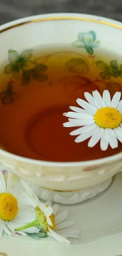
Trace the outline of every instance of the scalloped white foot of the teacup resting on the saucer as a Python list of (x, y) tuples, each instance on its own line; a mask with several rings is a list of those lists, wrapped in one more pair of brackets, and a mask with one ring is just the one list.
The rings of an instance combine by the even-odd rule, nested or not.
[(51, 202), (58, 204), (78, 204), (103, 192), (108, 188), (111, 181), (112, 178), (109, 178), (96, 186), (68, 192), (53, 191), (51, 189), (42, 188), (36, 185), (32, 185), (31, 188), (36, 196), (42, 200), (50, 200)]

